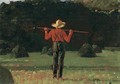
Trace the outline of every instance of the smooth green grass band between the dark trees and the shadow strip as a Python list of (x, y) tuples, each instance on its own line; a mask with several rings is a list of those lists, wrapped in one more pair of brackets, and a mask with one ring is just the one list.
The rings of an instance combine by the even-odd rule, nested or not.
[[(19, 66), (36, 66), (50, 67), (52, 65), (52, 56), (41, 54), (40, 52), (29, 53), (29, 58), (11, 58), (10, 55), (0, 56), (1, 65), (19, 65)], [(120, 67), (120, 52), (103, 50), (98, 53), (97, 57), (87, 58), (80, 57), (77, 51), (66, 51), (64, 66), (65, 68), (81, 67)], [(47, 68), (48, 69), (48, 68)]]

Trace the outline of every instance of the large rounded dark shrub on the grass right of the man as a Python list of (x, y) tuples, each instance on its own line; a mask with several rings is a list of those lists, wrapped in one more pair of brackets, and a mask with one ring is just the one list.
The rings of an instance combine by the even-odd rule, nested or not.
[(89, 43), (84, 43), (79, 49), (79, 55), (81, 57), (95, 57), (95, 51)]

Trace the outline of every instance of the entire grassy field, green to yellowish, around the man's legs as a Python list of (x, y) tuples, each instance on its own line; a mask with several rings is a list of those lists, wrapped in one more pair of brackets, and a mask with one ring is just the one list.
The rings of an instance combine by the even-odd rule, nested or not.
[(15, 84), (120, 84), (120, 51), (103, 50), (93, 58), (66, 51), (63, 80), (52, 79), (52, 56), (40, 52), (29, 55), (0, 56), (0, 64), (11, 71)]

